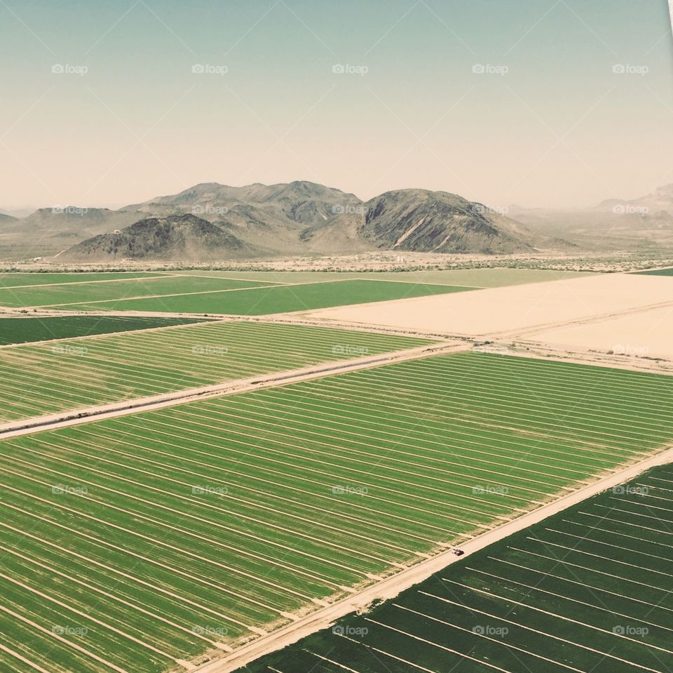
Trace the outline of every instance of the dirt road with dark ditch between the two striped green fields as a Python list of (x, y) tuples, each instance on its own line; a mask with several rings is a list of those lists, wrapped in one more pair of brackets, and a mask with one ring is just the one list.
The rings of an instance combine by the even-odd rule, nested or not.
[(0, 424), (0, 439), (20, 437), (24, 434), (40, 432), (45, 429), (79, 425), (79, 423), (90, 422), (92, 420), (114, 418), (120, 415), (136, 413), (137, 411), (154, 411), (155, 409), (164, 408), (166, 406), (176, 406), (179, 404), (186, 404), (187, 402), (210, 399), (212, 397), (223, 397), (225, 395), (237, 394), (240, 392), (251, 392), (253, 390), (266, 389), (280, 385), (289, 385), (290, 383), (313, 380), (315, 378), (322, 378), (323, 376), (350, 371), (358, 371), (360, 369), (377, 367), (383, 364), (393, 364), (407, 360), (432, 357), (439, 354), (460, 352), (467, 348), (468, 346), (462, 343), (437, 342), (411, 349), (381, 353), (375, 356), (360, 357), (337, 362), (326, 362), (289, 371), (280, 371), (266, 375), (262, 374), (245, 379), (217, 383), (215, 385), (205, 385), (178, 392), (152, 395), (151, 397), (140, 397), (100, 406), (83, 407), (63, 413), (34, 416), (33, 418)]

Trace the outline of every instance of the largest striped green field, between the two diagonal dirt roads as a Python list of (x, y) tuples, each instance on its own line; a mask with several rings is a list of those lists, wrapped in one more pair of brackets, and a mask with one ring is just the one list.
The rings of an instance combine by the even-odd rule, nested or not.
[(656, 375), (464, 353), (6, 439), (0, 656), (50, 673), (203, 661), (660, 448), (671, 397)]

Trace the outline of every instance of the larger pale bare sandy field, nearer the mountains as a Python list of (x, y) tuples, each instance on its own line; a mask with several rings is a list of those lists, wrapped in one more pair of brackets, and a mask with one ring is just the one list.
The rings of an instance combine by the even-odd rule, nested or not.
[(516, 338), (647, 307), (673, 305), (673, 279), (601, 274), (548, 283), (313, 311), (353, 322), (466, 337)]

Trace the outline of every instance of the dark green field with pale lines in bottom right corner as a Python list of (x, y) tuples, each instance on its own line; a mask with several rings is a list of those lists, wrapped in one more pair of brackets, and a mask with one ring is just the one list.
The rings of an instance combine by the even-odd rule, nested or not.
[(240, 671), (668, 673), (672, 525), (667, 465)]

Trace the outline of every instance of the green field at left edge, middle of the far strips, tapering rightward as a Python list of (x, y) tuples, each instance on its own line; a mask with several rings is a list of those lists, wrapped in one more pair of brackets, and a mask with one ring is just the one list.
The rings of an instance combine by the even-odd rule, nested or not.
[(164, 295), (202, 292), (231, 291), (241, 288), (264, 286), (261, 281), (239, 281), (226, 278), (203, 278), (200, 276), (156, 276), (151, 278), (110, 279), (87, 283), (65, 283), (32, 287), (0, 289), (0, 306), (8, 307), (63, 307), (82, 301), (95, 302), (91, 309), (102, 309), (99, 302), (118, 300), (105, 308), (115, 308), (116, 304), (133, 297), (154, 297), (151, 300), (156, 310), (161, 309)]

